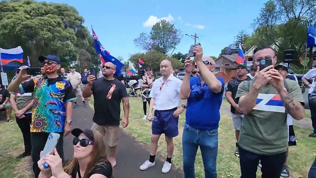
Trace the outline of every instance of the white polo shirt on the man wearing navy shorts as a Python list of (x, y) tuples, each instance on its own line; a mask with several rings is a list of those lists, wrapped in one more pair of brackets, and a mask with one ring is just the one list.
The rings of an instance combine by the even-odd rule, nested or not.
[(170, 75), (166, 82), (163, 82), (162, 77), (155, 80), (149, 95), (149, 97), (155, 98), (154, 109), (161, 111), (178, 107), (181, 84), (182, 80), (173, 75)]

